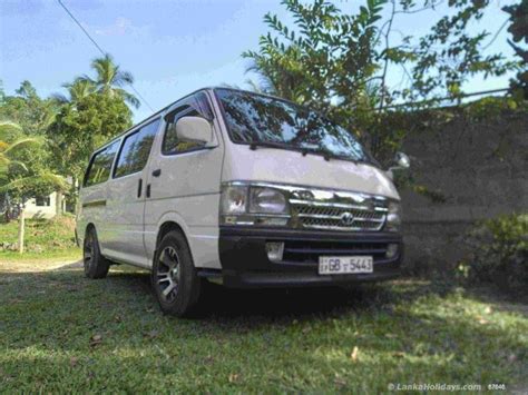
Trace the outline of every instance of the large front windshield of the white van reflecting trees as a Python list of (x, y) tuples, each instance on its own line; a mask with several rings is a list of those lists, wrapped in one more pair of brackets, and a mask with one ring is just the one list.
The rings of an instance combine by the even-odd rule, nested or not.
[(233, 142), (375, 162), (351, 131), (315, 111), (246, 91), (219, 88), (215, 92)]

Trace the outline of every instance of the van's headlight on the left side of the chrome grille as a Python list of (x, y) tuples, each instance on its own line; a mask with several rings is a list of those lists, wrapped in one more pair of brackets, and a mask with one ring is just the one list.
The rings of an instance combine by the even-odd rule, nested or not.
[(227, 184), (222, 187), (219, 214), (222, 225), (285, 226), (290, 207), (280, 189)]

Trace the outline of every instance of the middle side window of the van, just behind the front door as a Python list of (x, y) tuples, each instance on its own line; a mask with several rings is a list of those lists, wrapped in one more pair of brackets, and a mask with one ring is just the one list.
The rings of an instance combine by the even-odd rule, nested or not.
[(115, 178), (131, 175), (144, 169), (150, 155), (150, 148), (158, 126), (159, 119), (156, 119), (125, 138), (117, 157), (117, 165), (114, 170)]

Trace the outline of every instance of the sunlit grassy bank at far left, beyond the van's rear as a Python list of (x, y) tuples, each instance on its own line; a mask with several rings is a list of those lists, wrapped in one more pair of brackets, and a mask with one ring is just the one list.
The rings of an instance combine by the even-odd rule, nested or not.
[[(18, 220), (0, 223), (0, 243), (18, 243)], [(27, 219), (25, 233), (25, 254), (0, 246), (0, 260), (35, 258), (74, 258), (80, 256), (75, 244), (75, 219), (65, 215), (59, 219)], [(16, 249), (16, 248), (14, 248)]]

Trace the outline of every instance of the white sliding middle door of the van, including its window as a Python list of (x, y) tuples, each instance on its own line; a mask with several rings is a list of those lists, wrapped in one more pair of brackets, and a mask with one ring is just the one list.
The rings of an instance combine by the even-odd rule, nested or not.
[(160, 119), (124, 138), (108, 186), (106, 254), (118, 261), (147, 266), (144, 245), (146, 171)]

